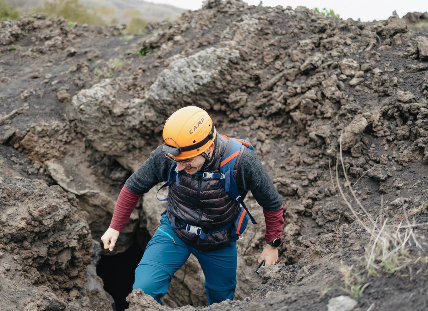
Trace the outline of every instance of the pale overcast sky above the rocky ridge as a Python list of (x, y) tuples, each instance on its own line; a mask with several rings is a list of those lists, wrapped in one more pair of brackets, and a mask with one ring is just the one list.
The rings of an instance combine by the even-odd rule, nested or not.
[[(154, 3), (166, 3), (177, 6), (182, 9), (197, 10), (202, 7), (202, 0), (146, 0)], [(258, 5), (259, 0), (245, 1), (249, 5)], [(393, 11), (402, 17), (407, 12), (427, 12), (427, 0), (263, 0), (263, 6), (291, 6), (295, 9), (297, 6), (306, 6), (308, 9), (327, 8), (333, 9), (341, 18), (352, 18), (361, 21), (380, 21), (392, 15)]]

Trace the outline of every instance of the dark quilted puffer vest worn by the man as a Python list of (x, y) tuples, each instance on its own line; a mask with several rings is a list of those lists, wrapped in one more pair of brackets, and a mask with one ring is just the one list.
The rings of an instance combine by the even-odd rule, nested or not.
[[(213, 156), (208, 160), (200, 172), (220, 171), (220, 162), (229, 139), (218, 133), (214, 139)], [(233, 168), (236, 180), (238, 167), (246, 148), (243, 145)], [(202, 252), (214, 251), (230, 246), (232, 241), (232, 226), (216, 231), (232, 223), (239, 213), (239, 203), (224, 191), (217, 178), (203, 178), (189, 175), (182, 171), (178, 173), (179, 186), (175, 181), (169, 185), (168, 190), (168, 217), (172, 222), (175, 216), (175, 225), (184, 224), (201, 227), (203, 231), (211, 232), (206, 239), (186, 231), (185, 228), (173, 229), (178, 237), (189, 246)], [(239, 187), (239, 184), (238, 184)]]

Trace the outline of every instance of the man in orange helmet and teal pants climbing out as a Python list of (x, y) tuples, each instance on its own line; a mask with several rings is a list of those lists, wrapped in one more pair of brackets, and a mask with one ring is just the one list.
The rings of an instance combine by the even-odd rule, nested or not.
[[(208, 113), (195, 106), (181, 108), (166, 120), (163, 144), (125, 182), (110, 227), (101, 237), (104, 249), (112, 251), (140, 196), (168, 181), (167, 210), (135, 270), (134, 289), (141, 288), (160, 303), (172, 275), (193, 254), (205, 275), (208, 304), (232, 300), (236, 240), (248, 214), (241, 205), (246, 190), (265, 215), (267, 244), (259, 264), (276, 263), (284, 225), (282, 198), (256, 153), (247, 148), (250, 144), (240, 142), (219, 135)], [(230, 177), (222, 171), (225, 163), (234, 163)], [(236, 197), (230, 194), (234, 187)]]

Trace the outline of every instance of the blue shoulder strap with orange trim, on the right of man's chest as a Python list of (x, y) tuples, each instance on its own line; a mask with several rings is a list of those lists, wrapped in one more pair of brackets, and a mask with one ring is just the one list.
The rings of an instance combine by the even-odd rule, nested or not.
[(232, 196), (232, 198), (238, 201), (242, 205), (242, 207), (244, 207), (244, 209), (248, 213), (248, 216), (251, 219), (251, 222), (254, 225), (256, 225), (257, 224), (256, 220), (254, 219), (253, 216), (251, 216), (251, 213), (248, 211), (247, 206), (244, 203), (243, 197), (247, 195), (248, 191), (244, 191), (243, 197), (241, 197), (241, 193), (238, 190), (238, 185), (236, 184), (235, 178), (233, 178), (233, 168), (235, 166), (236, 159), (239, 155), (239, 152), (241, 151), (241, 146), (243, 145), (243, 143), (248, 143), (248, 145), (245, 144), (245, 146), (249, 149), (253, 148), (253, 146), (250, 144), (250, 142), (247, 142), (244, 139), (240, 140), (240, 139), (230, 138), (229, 144), (231, 142), (232, 142), (232, 148), (227, 154), (223, 155), (222, 161), (220, 163), (220, 174), (225, 175), (225, 178), (220, 179), (220, 181), (223, 184), (224, 190), (227, 193), (229, 193), (229, 195)]

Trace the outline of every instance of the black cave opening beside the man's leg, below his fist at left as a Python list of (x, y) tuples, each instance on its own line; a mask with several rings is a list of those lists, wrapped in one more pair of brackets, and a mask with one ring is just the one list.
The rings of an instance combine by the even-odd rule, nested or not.
[(143, 257), (144, 249), (134, 242), (125, 252), (107, 256), (102, 255), (97, 266), (97, 274), (104, 282), (104, 290), (115, 302), (116, 311), (128, 308), (125, 298), (132, 291), (134, 272)]

